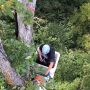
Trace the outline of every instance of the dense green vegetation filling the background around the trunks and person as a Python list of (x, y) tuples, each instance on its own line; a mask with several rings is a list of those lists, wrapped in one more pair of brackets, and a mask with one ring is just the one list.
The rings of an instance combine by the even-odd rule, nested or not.
[[(27, 64), (36, 57), (37, 46), (49, 43), (60, 52), (61, 58), (47, 90), (90, 90), (89, 0), (37, 0), (34, 44), (30, 46), (16, 40), (15, 20), (11, 17), (10, 12), (0, 13), (0, 37), (17, 73), (25, 77)], [(0, 90), (11, 90), (0, 75)], [(26, 90), (34, 90), (32, 82), (27, 81)]]

